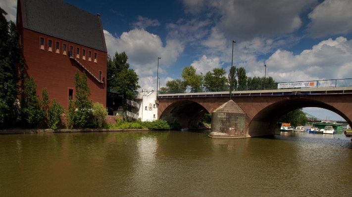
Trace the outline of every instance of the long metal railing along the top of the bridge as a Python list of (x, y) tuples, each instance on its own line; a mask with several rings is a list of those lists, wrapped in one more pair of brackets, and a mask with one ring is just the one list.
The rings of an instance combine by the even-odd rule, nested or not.
[[(301, 83), (307, 81), (295, 81), (289, 83)], [(352, 79), (327, 79), (327, 80), (309, 80), (315, 82), (316, 88), (319, 87), (346, 87), (352, 86)], [(261, 84), (246, 84), (233, 87), (232, 91), (245, 91), (245, 90), (271, 90), (278, 89), (279, 82), (276, 83), (261, 83)], [(312, 86), (309, 86), (310, 88)], [(292, 88), (292, 87), (290, 87)], [(304, 87), (297, 87), (304, 88)], [(230, 91), (230, 86), (221, 87), (199, 87), (199, 88), (183, 88), (183, 89), (164, 89), (158, 90), (158, 94), (180, 94), (180, 93), (199, 93), (199, 92), (225, 92)]]

